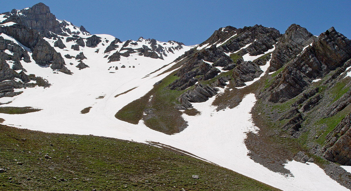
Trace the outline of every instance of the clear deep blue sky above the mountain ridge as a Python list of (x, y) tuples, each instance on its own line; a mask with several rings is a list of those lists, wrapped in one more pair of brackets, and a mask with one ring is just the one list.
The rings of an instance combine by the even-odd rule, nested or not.
[(334, 26), (351, 37), (351, 0), (8, 0), (1, 3), (0, 12), (38, 2), (49, 6), (58, 19), (83, 25), (92, 34), (111, 34), (122, 41), (142, 36), (193, 45), (228, 25), (242, 28), (261, 24), (284, 33), (293, 23), (314, 35)]

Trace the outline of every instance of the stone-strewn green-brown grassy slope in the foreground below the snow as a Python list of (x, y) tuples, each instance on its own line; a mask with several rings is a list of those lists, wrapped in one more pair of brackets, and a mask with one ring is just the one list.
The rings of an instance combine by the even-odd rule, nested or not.
[(0, 190), (277, 190), (196, 158), (119, 139), (0, 125), (0, 140), (1, 167), (8, 168)]

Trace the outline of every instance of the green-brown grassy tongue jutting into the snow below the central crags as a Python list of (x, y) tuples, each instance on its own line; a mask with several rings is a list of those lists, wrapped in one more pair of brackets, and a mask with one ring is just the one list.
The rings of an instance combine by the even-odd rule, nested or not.
[[(152, 108), (153, 115), (150, 118), (144, 119), (146, 126), (166, 134), (180, 132), (179, 127), (184, 126), (186, 122), (181, 118), (182, 112), (175, 109), (174, 106), (179, 103), (177, 98), (192, 87), (183, 91), (166, 88), (174, 80), (179, 78), (175, 75), (176, 73), (177, 71), (172, 72), (143, 97), (121, 108), (115, 114), (115, 117), (128, 123), (138, 124), (139, 120), (144, 117), (144, 110)], [(151, 95), (153, 97), (149, 101)]]

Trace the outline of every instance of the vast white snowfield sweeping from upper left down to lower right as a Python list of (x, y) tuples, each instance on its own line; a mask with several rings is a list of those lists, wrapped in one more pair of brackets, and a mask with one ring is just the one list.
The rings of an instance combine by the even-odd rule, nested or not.
[[(12, 37), (4, 34), (1, 36), (18, 43)], [(102, 42), (114, 40), (111, 35), (98, 34), (97, 36), (101, 37)], [(54, 40), (45, 40), (53, 46)], [(31, 106), (42, 109), (39, 112), (26, 114), (0, 114), (0, 117), (5, 119), (3, 124), (44, 132), (94, 134), (141, 143), (159, 142), (190, 152), (195, 157), (203, 158), (282, 190), (347, 190), (313, 163), (306, 165), (294, 161), (288, 162), (285, 167), (292, 172), (292, 177), (272, 172), (247, 156), (249, 151), (244, 144), (246, 132), (258, 130), (250, 114), (256, 101), (254, 94), (246, 95), (237, 107), (226, 108), (218, 112), (212, 105), (216, 96), (203, 103), (193, 103), (194, 108), (201, 113), (196, 116), (183, 114), (182, 117), (188, 121), (188, 127), (173, 135), (151, 130), (142, 120), (139, 121), (139, 124), (134, 125), (114, 117), (122, 107), (145, 95), (152, 89), (153, 84), (170, 74), (172, 71), (157, 76), (176, 64), (172, 61), (190, 47), (184, 46), (181, 50), (174, 50), (174, 54), (168, 54), (164, 60), (143, 57), (134, 53), (129, 57), (121, 57), (120, 61), (107, 63), (107, 58), (103, 57), (111, 55), (114, 51), (104, 54), (106, 43), (105, 45), (100, 43), (94, 48), (80, 47), (80, 51), (74, 51), (70, 49), (71, 45), (75, 44), (74, 42), (66, 42), (65, 39), (62, 41), (67, 48), (54, 47), (56, 51), (61, 55), (77, 55), (84, 52), (88, 59), (84, 59), (83, 62), (90, 67), (78, 70), (75, 67), (78, 64), (77, 60), (64, 57), (66, 67), (74, 74), (67, 75), (61, 72), (56, 74), (49, 67), (35, 64), (33, 59), (29, 63), (21, 60), (27, 74), (33, 73), (41, 76), (47, 79), (52, 86), (45, 89), (42, 87), (16, 89), (16, 92), (23, 91), (23, 93), (12, 98), (0, 98), (1, 103), (12, 101), (6, 106)], [(140, 44), (146, 44), (145, 42), (140, 42)], [(100, 51), (96, 53), (96, 50)], [(31, 52), (28, 54), (31, 56)], [(70, 62), (73, 65), (70, 65)], [(171, 64), (145, 77), (168, 63)], [(121, 68), (122, 65), (125, 65), (126, 68)], [(115, 70), (115, 66), (119, 69)], [(135, 66), (135, 68), (129, 68), (129, 66)], [(268, 66), (269, 61), (265, 66), (261, 66), (261, 70), (266, 71)], [(109, 67), (112, 68), (108, 70)], [(246, 83), (246, 85), (252, 83)], [(137, 88), (114, 97), (134, 87)], [(219, 89), (221, 92), (224, 91), (223, 88)], [(105, 97), (96, 99), (100, 95), (105, 95)], [(82, 109), (89, 106), (92, 106), (89, 113), (80, 113)]]

